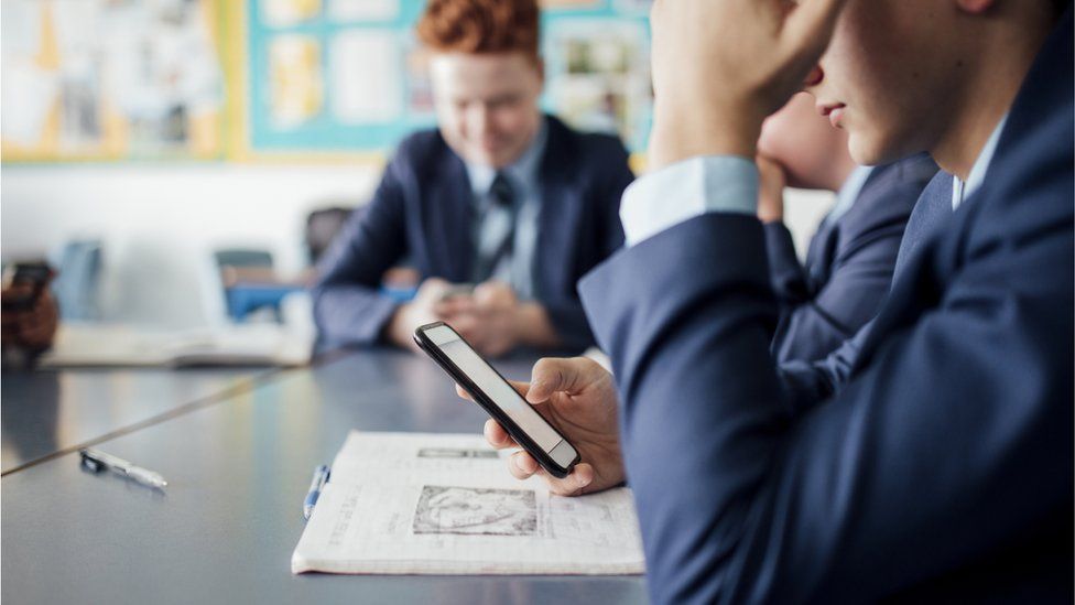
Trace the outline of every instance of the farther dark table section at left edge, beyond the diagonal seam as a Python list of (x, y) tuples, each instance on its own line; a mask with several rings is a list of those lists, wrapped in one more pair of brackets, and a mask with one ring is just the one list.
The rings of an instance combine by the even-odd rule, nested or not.
[(66, 369), (4, 371), (0, 472), (158, 422), (253, 387), (272, 370)]

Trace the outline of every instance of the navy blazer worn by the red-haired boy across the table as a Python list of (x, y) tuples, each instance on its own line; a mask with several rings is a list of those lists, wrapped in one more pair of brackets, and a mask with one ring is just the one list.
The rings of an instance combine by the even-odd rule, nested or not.
[[(620, 196), (633, 180), (623, 144), (546, 117), (534, 252), (536, 300), (565, 348), (593, 343), (575, 283), (622, 246)], [(313, 289), (322, 346), (379, 342), (398, 303), (378, 292), (404, 257), (422, 279), (469, 281), (473, 193), (466, 165), (436, 130), (402, 143), (372, 201), (359, 208), (319, 263)]]

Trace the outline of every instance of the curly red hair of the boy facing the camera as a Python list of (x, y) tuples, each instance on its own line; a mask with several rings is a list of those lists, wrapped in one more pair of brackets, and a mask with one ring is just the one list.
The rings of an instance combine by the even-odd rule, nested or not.
[(419, 39), (433, 51), (538, 58), (536, 0), (430, 0)]

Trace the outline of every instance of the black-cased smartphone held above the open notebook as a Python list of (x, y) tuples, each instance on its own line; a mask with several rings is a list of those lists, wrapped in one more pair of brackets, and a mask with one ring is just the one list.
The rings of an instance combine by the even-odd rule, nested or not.
[(414, 331), (414, 342), (554, 477), (578, 463), (578, 451), (534, 410), (459, 333), (444, 322)]

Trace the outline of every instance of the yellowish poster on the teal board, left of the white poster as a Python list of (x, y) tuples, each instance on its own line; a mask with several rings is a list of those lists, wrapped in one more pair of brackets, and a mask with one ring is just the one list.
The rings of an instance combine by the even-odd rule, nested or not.
[(270, 114), (278, 128), (295, 128), (321, 112), (324, 83), (321, 44), (305, 35), (280, 35), (269, 46)]

